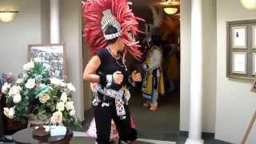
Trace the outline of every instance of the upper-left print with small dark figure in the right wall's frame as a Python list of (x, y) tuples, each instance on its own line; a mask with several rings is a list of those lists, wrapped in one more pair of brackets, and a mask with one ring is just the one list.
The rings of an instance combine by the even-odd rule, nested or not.
[(246, 26), (232, 28), (232, 48), (246, 49)]

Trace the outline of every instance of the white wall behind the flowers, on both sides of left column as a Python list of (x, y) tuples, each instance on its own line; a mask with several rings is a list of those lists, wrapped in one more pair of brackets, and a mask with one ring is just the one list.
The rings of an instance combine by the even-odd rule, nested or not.
[[(49, 0), (1, 0), (0, 10), (19, 10), (14, 22), (0, 23), (0, 72), (22, 71), (29, 44), (50, 42)], [(74, 102), (83, 120), (81, 1), (61, 0), (62, 43), (66, 45), (68, 76), (77, 91)]]

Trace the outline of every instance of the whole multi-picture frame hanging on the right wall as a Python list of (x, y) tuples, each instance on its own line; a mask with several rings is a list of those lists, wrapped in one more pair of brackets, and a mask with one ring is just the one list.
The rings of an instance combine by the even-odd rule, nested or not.
[(226, 77), (255, 79), (256, 19), (226, 22)]

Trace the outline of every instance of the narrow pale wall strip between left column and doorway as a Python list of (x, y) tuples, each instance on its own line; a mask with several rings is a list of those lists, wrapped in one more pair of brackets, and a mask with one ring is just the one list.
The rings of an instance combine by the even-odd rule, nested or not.
[(78, 117), (83, 120), (81, 5), (81, 0), (60, 1), (61, 42), (66, 46), (68, 77), (76, 87), (74, 94), (75, 108)]

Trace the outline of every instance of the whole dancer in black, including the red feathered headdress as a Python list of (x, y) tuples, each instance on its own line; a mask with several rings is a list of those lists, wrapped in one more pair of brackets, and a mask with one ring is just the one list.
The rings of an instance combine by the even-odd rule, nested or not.
[(140, 18), (134, 17), (126, 0), (87, 0), (82, 14), (86, 21), (84, 37), (94, 54), (83, 78), (97, 83), (92, 101), (96, 143), (110, 143), (111, 119), (118, 130), (119, 143), (133, 143), (137, 132), (130, 125), (130, 96), (125, 91), (142, 78), (137, 71), (130, 73), (126, 69), (125, 55), (129, 51), (135, 58), (141, 57), (138, 42), (130, 38), (138, 34)]

